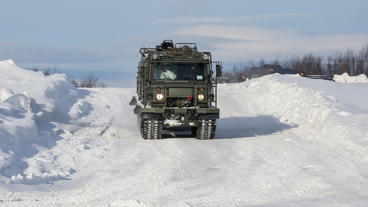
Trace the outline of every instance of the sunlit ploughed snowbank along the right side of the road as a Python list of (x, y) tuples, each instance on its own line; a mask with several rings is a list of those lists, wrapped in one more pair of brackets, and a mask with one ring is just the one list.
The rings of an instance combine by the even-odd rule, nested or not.
[(316, 139), (356, 151), (368, 162), (368, 85), (267, 75), (219, 90), (251, 94), (259, 111), (267, 111)]

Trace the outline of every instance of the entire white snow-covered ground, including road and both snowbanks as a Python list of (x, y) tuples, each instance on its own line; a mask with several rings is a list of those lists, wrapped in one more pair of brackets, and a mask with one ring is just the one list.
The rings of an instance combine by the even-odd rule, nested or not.
[(10, 60), (0, 88), (0, 206), (368, 203), (367, 83), (272, 74), (220, 84), (213, 140), (180, 127), (142, 139), (134, 88), (76, 89)]

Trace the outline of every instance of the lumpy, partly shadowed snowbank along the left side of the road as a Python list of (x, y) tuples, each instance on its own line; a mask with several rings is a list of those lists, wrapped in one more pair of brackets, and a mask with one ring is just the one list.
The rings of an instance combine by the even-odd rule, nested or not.
[[(12, 60), (0, 61), (0, 183), (47, 183), (69, 174), (70, 168), (38, 152), (47, 151), (42, 146), (55, 142), (50, 132), (57, 132), (52, 131), (49, 119), (77, 93), (64, 74), (45, 76), (20, 68)], [(78, 117), (84, 107), (79, 103), (71, 116)]]

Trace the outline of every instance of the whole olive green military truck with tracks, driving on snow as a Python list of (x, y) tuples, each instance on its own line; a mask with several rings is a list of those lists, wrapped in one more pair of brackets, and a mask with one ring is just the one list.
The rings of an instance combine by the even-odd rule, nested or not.
[(136, 106), (142, 138), (160, 139), (163, 127), (171, 126), (190, 126), (197, 139), (214, 138), (222, 62), (212, 62), (211, 53), (199, 52), (195, 43), (172, 40), (139, 52), (137, 94), (130, 105)]

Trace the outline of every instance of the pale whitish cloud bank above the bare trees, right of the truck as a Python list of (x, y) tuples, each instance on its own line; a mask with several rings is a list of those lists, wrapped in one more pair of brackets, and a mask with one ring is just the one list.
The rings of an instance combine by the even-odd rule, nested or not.
[[(275, 30), (253, 26), (198, 25), (178, 28), (175, 35), (211, 38), (213, 56), (226, 61), (270, 59), (275, 54), (331, 54), (347, 47), (359, 50), (368, 34), (309, 35), (296, 30)], [(216, 40), (216, 41), (214, 41)]]

